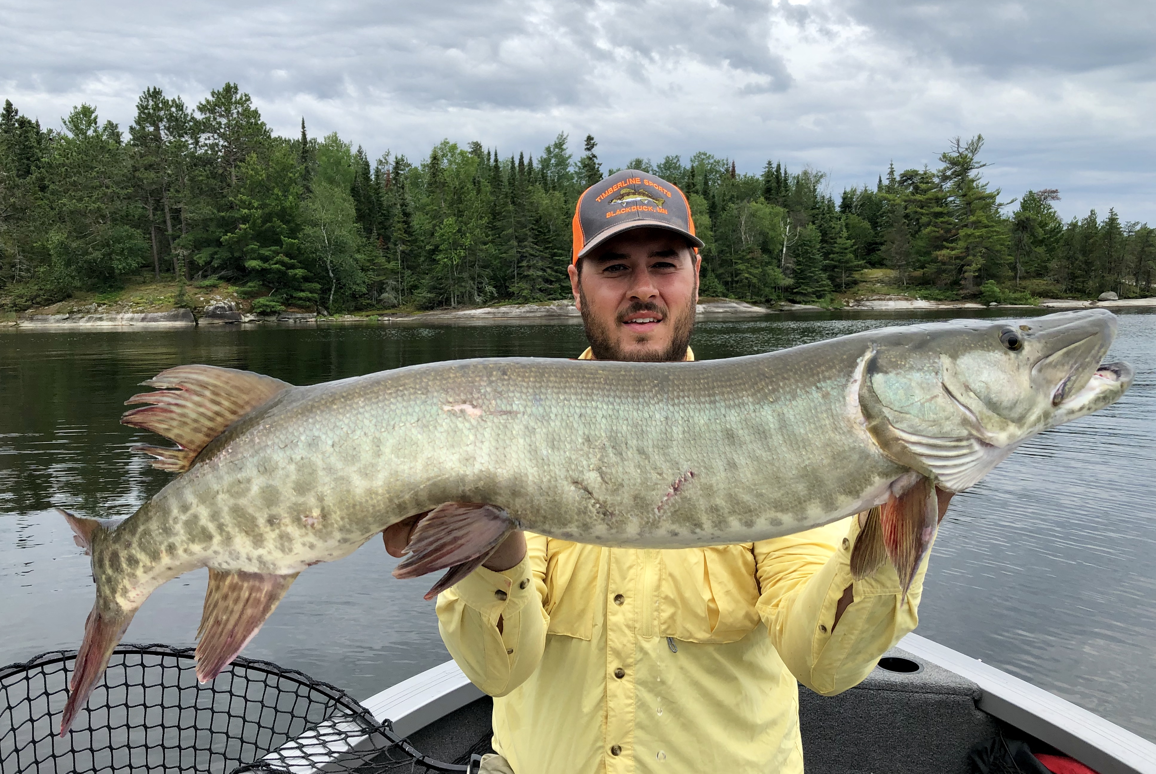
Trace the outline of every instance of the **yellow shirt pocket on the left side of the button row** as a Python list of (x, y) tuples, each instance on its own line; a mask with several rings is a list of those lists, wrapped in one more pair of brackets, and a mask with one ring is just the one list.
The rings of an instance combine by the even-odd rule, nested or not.
[(591, 639), (602, 596), (598, 593), (601, 573), (601, 546), (550, 538), (546, 551), (546, 598), (542, 600), (542, 609), (550, 617), (547, 634)]

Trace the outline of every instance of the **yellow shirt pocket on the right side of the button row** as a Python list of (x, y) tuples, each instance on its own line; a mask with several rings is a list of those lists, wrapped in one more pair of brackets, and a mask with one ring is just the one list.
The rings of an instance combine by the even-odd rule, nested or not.
[(659, 628), (688, 642), (736, 642), (759, 617), (750, 543), (660, 551)]

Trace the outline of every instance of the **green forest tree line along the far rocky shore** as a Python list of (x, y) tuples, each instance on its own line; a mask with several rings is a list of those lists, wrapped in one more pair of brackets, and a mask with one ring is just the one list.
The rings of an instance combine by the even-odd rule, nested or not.
[[(1065, 222), (1055, 189), (1000, 201), (983, 143), (955, 140), (935, 169), (892, 165), (838, 198), (822, 172), (771, 161), (757, 174), (709, 152), (625, 168), (686, 192), (705, 297), (830, 299), (869, 268), (890, 269), (873, 286), (924, 298), (1151, 295), (1153, 229), (1114, 210)], [(275, 135), (235, 83), (195, 107), (147, 89), (127, 133), (87, 104), (44, 129), (6, 101), (0, 305), (142, 273), (228, 282), (258, 312), (565, 298), (575, 202), (603, 177), (596, 147), (587, 135), (578, 154), (558, 134), (535, 157), (443, 141), (416, 162), (370, 161), (304, 119), (299, 136)]]

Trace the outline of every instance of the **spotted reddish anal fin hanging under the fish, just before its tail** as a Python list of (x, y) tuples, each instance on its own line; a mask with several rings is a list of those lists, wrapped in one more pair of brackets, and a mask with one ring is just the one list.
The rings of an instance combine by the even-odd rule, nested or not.
[(208, 683), (261, 628), (296, 580), (272, 573), (222, 572), (209, 567), (205, 611), (197, 630), (197, 679)]

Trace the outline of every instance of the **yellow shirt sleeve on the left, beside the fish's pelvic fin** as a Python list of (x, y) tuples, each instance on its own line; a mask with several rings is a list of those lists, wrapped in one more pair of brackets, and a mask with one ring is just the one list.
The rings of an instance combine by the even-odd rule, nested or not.
[[(446, 649), (466, 677), (492, 697), (524, 683), (546, 647), (546, 538), (526, 538), (526, 557), (510, 570), (479, 567), (438, 595), (438, 630)], [(541, 573), (535, 572), (539, 563)]]

